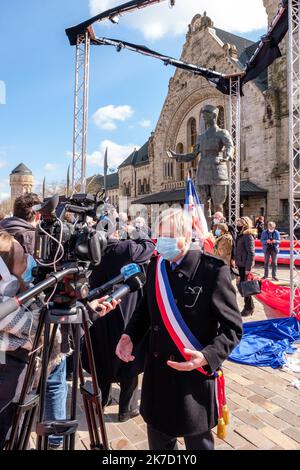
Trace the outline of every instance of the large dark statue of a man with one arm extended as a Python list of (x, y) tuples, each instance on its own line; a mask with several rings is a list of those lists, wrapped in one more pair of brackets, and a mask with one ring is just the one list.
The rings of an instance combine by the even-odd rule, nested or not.
[(177, 154), (168, 150), (167, 154), (180, 163), (192, 162), (201, 154), (196, 185), (205, 207), (205, 215), (211, 218), (212, 209), (213, 213), (223, 213), (229, 186), (228, 162), (232, 160), (234, 145), (229, 132), (217, 125), (218, 108), (207, 105), (201, 113), (206, 131), (198, 135), (193, 152)]

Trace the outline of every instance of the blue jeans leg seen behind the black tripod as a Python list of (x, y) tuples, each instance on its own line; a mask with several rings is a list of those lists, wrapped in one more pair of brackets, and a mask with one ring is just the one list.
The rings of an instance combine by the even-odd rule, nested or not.
[[(46, 387), (45, 421), (66, 419), (68, 385), (66, 381), (67, 361), (64, 357), (60, 364), (49, 374)], [(63, 437), (50, 436), (54, 445), (63, 443)]]

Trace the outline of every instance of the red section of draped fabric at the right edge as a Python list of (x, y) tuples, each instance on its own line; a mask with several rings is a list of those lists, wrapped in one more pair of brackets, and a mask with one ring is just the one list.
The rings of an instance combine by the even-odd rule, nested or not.
[[(272, 307), (285, 316), (290, 316), (290, 288), (288, 286), (278, 286), (270, 281), (262, 281), (261, 294), (256, 296), (262, 303)], [(296, 313), (300, 320), (300, 291), (295, 293)]]

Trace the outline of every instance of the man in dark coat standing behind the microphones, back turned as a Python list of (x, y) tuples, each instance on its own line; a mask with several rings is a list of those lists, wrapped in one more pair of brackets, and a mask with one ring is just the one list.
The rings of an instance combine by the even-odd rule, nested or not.
[[(153, 242), (144, 235), (140, 237), (138, 233), (133, 233), (131, 239), (120, 240), (115, 232), (108, 239), (100, 266), (93, 270), (90, 278), (91, 288), (99, 287), (118, 276), (121, 268), (127, 264), (137, 263), (145, 269), (154, 249)], [(111, 384), (120, 383), (120, 421), (127, 421), (139, 414), (138, 375), (144, 370), (147, 338), (137, 348), (139, 360), (135, 364), (124, 364), (116, 357), (115, 350), (142, 295), (142, 291), (128, 294), (115, 311), (98, 319), (90, 329), (102, 404), (105, 406), (110, 401)], [(85, 346), (83, 364), (88, 370)]]

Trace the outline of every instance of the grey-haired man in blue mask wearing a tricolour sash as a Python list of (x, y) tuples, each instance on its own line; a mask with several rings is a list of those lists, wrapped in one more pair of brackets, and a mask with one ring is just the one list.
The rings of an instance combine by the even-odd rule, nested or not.
[[(241, 316), (228, 266), (191, 245), (184, 215), (180, 216), (180, 209), (173, 210), (173, 214), (171, 211), (160, 217), (157, 249), (169, 261), (167, 276), (175, 303), (204, 349), (185, 350), (190, 360), (182, 362), (159, 311), (155, 295), (157, 259), (152, 259), (145, 295), (116, 354), (125, 362), (134, 361), (133, 347), (150, 329), (141, 400), (150, 449), (174, 450), (177, 437), (183, 436), (189, 450), (212, 450), (211, 430), (218, 422), (215, 378), (196, 369), (202, 367), (212, 373), (221, 367), (241, 339)], [(165, 229), (162, 221), (168, 218), (169, 229)], [(179, 233), (175, 228), (180, 228)], [(171, 248), (174, 238), (177, 243)]]

